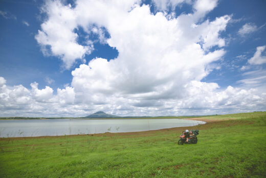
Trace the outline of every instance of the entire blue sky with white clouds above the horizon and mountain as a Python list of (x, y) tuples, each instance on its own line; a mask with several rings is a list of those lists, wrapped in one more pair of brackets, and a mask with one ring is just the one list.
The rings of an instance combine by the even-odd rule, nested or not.
[(266, 111), (265, 8), (0, 0), (0, 116)]

